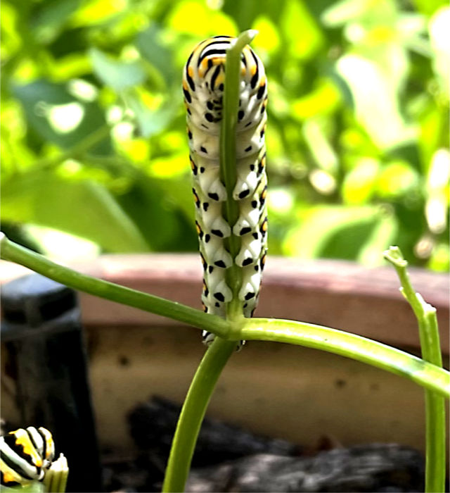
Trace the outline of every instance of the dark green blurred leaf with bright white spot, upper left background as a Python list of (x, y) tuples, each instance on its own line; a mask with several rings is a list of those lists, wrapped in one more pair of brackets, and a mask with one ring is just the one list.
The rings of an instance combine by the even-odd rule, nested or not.
[[(72, 147), (105, 125), (103, 111), (95, 101), (76, 98), (63, 84), (37, 80), (13, 86), (13, 94), (22, 104), (34, 132), (44, 141), (60, 147)], [(109, 137), (90, 151), (92, 154), (110, 154)]]

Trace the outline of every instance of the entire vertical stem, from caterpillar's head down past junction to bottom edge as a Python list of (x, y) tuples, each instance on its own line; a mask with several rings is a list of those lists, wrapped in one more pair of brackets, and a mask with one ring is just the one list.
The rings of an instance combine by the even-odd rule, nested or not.
[[(224, 100), (220, 129), (220, 178), (226, 188), (224, 204), (224, 218), (231, 227), (239, 217), (239, 205), (233, 199), (233, 189), (236, 185), (236, 123), (238, 121), (239, 104), (239, 77), (240, 54), (257, 34), (256, 31), (243, 32), (235, 42), (232, 42), (226, 54), (226, 73), (224, 82)], [(240, 249), (240, 238), (231, 233), (225, 239), (226, 249), (231, 257), (236, 258)], [(238, 292), (240, 289), (240, 268), (233, 265), (226, 270), (226, 281), (233, 299), (227, 306), (226, 320), (238, 325), (238, 319), (243, 317), (242, 307), (239, 304)], [(236, 327), (235, 327), (236, 328)], [(232, 330), (232, 327), (231, 327)], [(207, 405), (217, 380), (236, 348), (236, 341), (226, 341), (216, 337), (212, 346), (206, 351), (203, 360), (191, 382), (188, 394), (181, 409), (179, 421), (176, 425), (174, 440), (167, 462), (163, 492), (182, 492), (188, 478), (192, 456), (197, 442), (198, 432), (205, 416)]]

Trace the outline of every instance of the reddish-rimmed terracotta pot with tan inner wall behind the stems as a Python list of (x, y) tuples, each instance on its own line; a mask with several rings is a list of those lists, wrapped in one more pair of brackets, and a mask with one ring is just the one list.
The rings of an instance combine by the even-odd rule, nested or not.
[[(74, 266), (200, 308), (197, 255), (102, 256)], [(27, 272), (6, 262), (1, 267), (2, 282)], [(415, 289), (437, 308), (447, 359), (446, 275), (409, 271)], [(205, 348), (192, 327), (86, 294), (79, 299), (99, 439), (103, 447), (127, 451), (127, 413), (152, 394), (181, 402)], [(256, 315), (328, 325), (420, 353), (416, 320), (390, 267), (269, 258)], [(14, 382), (5, 376), (3, 383), (8, 419), (15, 413)], [(344, 445), (398, 442), (423, 449), (423, 407), (423, 389), (404, 378), (322, 351), (250, 342), (231, 358), (208, 415), (306, 447), (328, 437)]]

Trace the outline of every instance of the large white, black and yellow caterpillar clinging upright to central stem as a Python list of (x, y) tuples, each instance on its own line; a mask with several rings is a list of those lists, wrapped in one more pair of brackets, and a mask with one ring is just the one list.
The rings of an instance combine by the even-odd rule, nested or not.
[[(187, 131), (195, 225), (203, 262), (202, 301), (207, 313), (224, 317), (232, 293), (225, 271), (233, 263), (241, 268), (238, 299), (245, 317), (257, 306), (266, 258), (266, 129), (267, 85), (264, 66), (250, 46), (240, 63), (240, 99), (236, 127), (237, 182), (233, 199), (239, 204), (236, 224), (222, 215), (226, 189), (219, 177), (219, 134), (222, 118), (226, 51), (233, 38), (215, 36), (200, 42), (189, 56), (183, 72)], [(240, 237), (241, 247), (231, 258), (224, 238)], [(203, 333), (209, 344), (214, 336)]]

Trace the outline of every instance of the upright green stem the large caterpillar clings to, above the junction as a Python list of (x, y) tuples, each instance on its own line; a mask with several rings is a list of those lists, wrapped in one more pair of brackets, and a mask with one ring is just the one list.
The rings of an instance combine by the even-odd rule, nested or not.
[[(238, 108), (240, 95), (240, 55), (246, 44), (250, 43), (257, 35), (257, 31), (248, 30), (231, 42), (231, 47), (226, 52), (226, 71), (224, 81), (223, 111), (220, 127), (220, 179), (225, 185), (226, 201), (224, 204), (224, 218), (233, 228), (239, 218), (239, 204), (233, 199), (233, 189), (236, 186), (236, 125), (238, 123)], [(240, 237), (233, 235), (224, 239), (226, 249), (234, 259), (240, 250)], [(238, 292), (242, 284), (240, 267), (235, 263), (226, 270), (226, 280), (233, 299), (227, 306), (227, 318), (238, 320), (243, 317), (242, 306), (238, 300)]]

